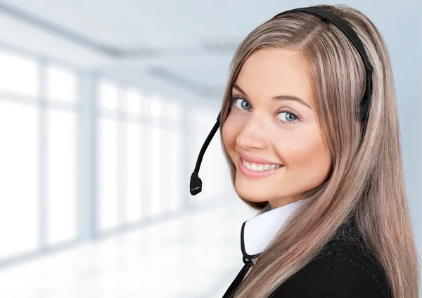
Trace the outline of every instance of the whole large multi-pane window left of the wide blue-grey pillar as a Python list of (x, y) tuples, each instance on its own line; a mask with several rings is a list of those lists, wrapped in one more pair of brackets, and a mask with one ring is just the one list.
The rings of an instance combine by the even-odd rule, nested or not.
[(0, 261), (77, 238), (78, 83), (0, 48)]

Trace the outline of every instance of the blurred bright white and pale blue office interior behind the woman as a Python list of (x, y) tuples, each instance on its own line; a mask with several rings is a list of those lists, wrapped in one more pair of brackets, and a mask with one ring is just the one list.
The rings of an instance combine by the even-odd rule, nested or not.
[[(344, 1), (388, 44), (421, 252), (421, 2), (373, 2)], [(222, 297), (255, 212), (219, 131), (189, 179), (236, 47), (312, 4), (0, 1), (0, 297)]]

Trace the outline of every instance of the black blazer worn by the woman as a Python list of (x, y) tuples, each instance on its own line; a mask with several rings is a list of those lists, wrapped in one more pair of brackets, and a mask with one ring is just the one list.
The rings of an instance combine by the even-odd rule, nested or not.
[[(383, 267), (363, 245), (356, 224), (339, 229), (324, 249), (290, 276), (269, 296), (271, 298), (392, 298)], [(246, 262), (223, 298), (231, 297), (248, 272)], [(258, 297), (257, 297), (258, 298)]]

